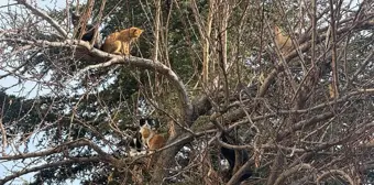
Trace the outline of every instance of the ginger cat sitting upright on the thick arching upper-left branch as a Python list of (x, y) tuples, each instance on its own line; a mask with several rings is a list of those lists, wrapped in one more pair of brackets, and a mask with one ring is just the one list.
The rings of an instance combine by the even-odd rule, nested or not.
[(143, 30), (130, 28), (111, 33), (102, 44), (101, 50), (111, 54), (130, 55), (130, 44), (135, 41)]

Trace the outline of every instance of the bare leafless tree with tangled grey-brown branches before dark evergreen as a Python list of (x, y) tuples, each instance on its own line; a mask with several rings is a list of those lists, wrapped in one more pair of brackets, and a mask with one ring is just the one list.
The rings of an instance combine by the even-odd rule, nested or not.
[[(169, 9), (166, 18), (164, 14), (167, 13), (161, 8), (163, 6), (161, 1), (152, 6), (140, 2), (142, 11), (148, 13), (144, 15), (144, 19), (148, 19), (145, 22), (152, 22), (151, 25), (155, 23), (152, 34), (155, 37), (144, 35), (153, 46), (148, 47), (148, 51), (153, 51), (153, 59), (111, 55), (91, 48), (87, 42), (66, 39), (68, 33), (63, 29), (64, 26), (58, 25), (58, 21), (50, 14), (43, 13), (26, 1), (16, 2), (45, 20), (59, 36), (55, 40), (46, 40), (16, 37), (14, 35), (18, 33), (14, 32), (2, 34), (1, 43), (8, 43), (12, 47), (12, 51), (4, 51), (6, 56), (9, 56), (6, 59), (9, 66), (2, 66), (2, 68), (11, 66), (11, 69), (6, 70), (7, 76), (42, 81), (41, 76), (46, 75), (47, 72), (41, 73), (42, 75), (37, 74), (38, 68), (32, 65), (32, 59), (14, 62), (12, 58), (12, 54), (15, 54), (14, 57), (28, 58), (36, 47), (40, 50), (38, 53), (66, 50), (69, 57), (73, 56), (72, 53), (75, 50), (80, 50), (95, 58), (95, 63), (77, 65), (74, 72), (67, 72), (63, 80), (51, 79), (52, 81), (48, 83), (54, 84), (56, 86), (54, 90), (58, 92), (68, 91), (73, 81), (79, 81), (90, 73), (99, 74), (101, 69), (107, 69), (105, 70), (107, 73), (108, 69), (118, 72), (117, 69), (121, 68), (133, 73), (134, 76), (147, 69), (147, 72), (165, 76), (172, 84), (173, 90), (178, 94), (180, 106), (175, 106), (174, 102), (170, 107), (178, 109), (175, 111), (177, 113), (170, 113), (172, 109), (167, 109), (167, 106), (163, 105), (164, 101), (160, 99), (150, 99), (150, 101), (158, 116), (173, 120), (176, 133), (163, 149), (156, 151), (161, 152), (157, 165), (147, 173), (150, 179), (144, 177), (143, 181), (148, 181), (151, 184), (161, 184), (164, 181), (166, 183), (179, 181), (237, 184), (242, 181), (243, 174), (249, 174), (249, 172), (251, 172), (251, 177), (246, 178), (246, 184), (272, 185), (290, 184), (290, 182), (321, 184), (339, 181), (361, 184), (373, 181), (367, 175), (373, 170), (371, 161), (373, 144), (371, 143), (374, 119), (371, 112), (373, 111), (374, 90), (371, 85), (373, 67), (370, 64), (373, 57), (371, 46), (373, 41), (372, 33), (367, 33), (374, 26), (373, 2), (363, 1), (358, 8), (353, 8), (339, 3), (343, 1), (314, 1), (309, 4), (309, 1), (300, 0), (297, 1), (296, 8), (289, 9), (290, 1), (230, 1), (228, 3), (209, 0), (208, 3), (190, 1), (188, 4), (170, 1), (166, 4)], [(180, 20), (176, 20), (174, 15)], [(180, 29), (180, 26), (186, 28)], [(162, 34), (164, 28), (170, 33), (166, 35), (167, 39)], [(283, 39), (286, 39), (287, 51), (282, 50), (283, 44), (277, 42), (279, 36), (276, 35), (278, 33), (274, 33), (274, 28), (278, 28), (277, 31), (282, 30), (279, 32)], [(154, 42), (152, 42), (153, 39)], [(180, 46), (182, 40), (183, 47)], [(163, 43), (164, 41), (168, 42)], [(169, 53), (162, 51), (166, 50), (164, 45)], [(22, 54), (23, 51), (25, 54)], [(145, 53), (145, 51), (141, 52)], [(167, 57), (163, 56), (165, 53)], [(51, 61), (48, 69), (64, 72), (64, 68), (58, 68), (58, 65), (66, 55), (51, 52), (46, 56)], [(64, 59), (54, 56), (62, 56)], [(170, 62), (170, 66), (163, 64), (165, 58), (169, 59), (167, 63)], [(194, 67), (186, 64), (179, 65), (188, 61), (186, 58), (190, 59), (190, 63), (187, 63), (190, 66), (196, 64), (196, 61), (200, 63)], [(77, 58), (72, 61), (79, 63)], [(22, 73), (25, 68), (23, 66), (34, 68), (28, 70), (30, 72), (28, 74)], [(183, 77), (186, 75), (184, 70), (190, 69), (189, 67), (196, 72), (190, 73), (193, 75), (188, 77)], [(106, 75), (113, 77), (109, 72)], [(150, 84), (154, 83), (152, 75), (144, 76), (151, 81)], [(139, 77), (138, 81), (142, 88), (148, 88), (142, 84), (144, 76)], [(105, 81), (102, 78), (100, 80)], [(100, 80), (96, 83), (100, 84)], [(328, 88), (330, 84), (333, 86), (331, 97)], [(157, 86), (163, 85), (157, 84)], [(130, 160), (124, 154), (125, 152), (121, 156), (114, 156), (112, 151), (120, 146), (117, 146), (111, 139), (117, 135), (106, 137), (112, 130), (101, 132), (100, 129), (105, 128), (103, 123), (94, 126), (96, 119), (87, 121), (84, 119), (86, 112), (78, 113), (79, 108), (84, 107), (82, 102), (91, 98), (91, 91), (96, 91), (97, 87), (100, 86), (86, 88), (87, 92), (76, 98), (77, 100), (72, 104), (74, 109), (69, 107), (76, 112), (73, 112), (69, 119), (62, 113), (51, 121), (53, 124), (44, 120), (35, 127), (40, 130), (31, 131), (41, 133), (51, 126), (61, 127), (58, 128), (61, 135), (57, 137), (59, 140), (53, 143), (56, 144), (54, 148), (51, 149), (48, 145), (50, 149), (46, 146), (44, 152), (21, 152), (0, 157), (1, 161), (11, 161), (35, 157), (53, 159), (57, 155), (64, 161), (29, 167), (20, 173), (8, 175), (1, 183), (12, 181), (25, 173), (79, 162), (102, 162), (108, 168), (114, 166), (113, 173), (114, 171), (129, 172), (123, 168), (135, 171), (133, 166), (151, 154)], [(61, 94), (56, 95), (61, 96)], [(173, 94), (166, 92), (165, 96), (172, 99)], [(102, 110), (95, 112), (97, 115), (100, 115), (100, 111), (108, 112), (107, 119), (100, 121), (116, 120), (111, 117), (112, 112), (114, 108), (121, 107), (110, 104), (110, 100), (106, 101), (102, 95), (97, 97), (99, 100), (96, 104), (85, 105), (87, 109), (103, 105)], [(121, 98), (113, 99), (112, 101), (117, 101)], [(130, 105), (129, 102), (125, 104)], [(11, 106), (9, 102), (4, 105)], [(113, 108), (113, 105), (118, 107)], [(48, 109), (48, 112), (59, 110), (54, 108)], [(127, 107), (127, 109), (131, 108), (138, 109), (139, 107)], [(63, 110), (59, 111), (64, 112)], [(43, 119), (46, 119), (44, 116), (46, 117), (47, 113), (41, 113)], [(3, 112), (3, 119), (6, 116)], [(22, 119), (19, 122), (22, 122)], [(44, 126), (45, 123), (47, 126)], [(2, 121), (1, 124), (8, 129), (2, 129), (3, 135), (7, 134), (4, 132), (10, 132), (12, 127), (19, 126), (9, 120)], [(130, 135), (130, 132), (125, 129), (121, 130), (117, 122), (110, 126), (113, 126), (110, 129), (117, 129), (117, 134)], [(91, 135), (86, 132), (92, 132), (95, 139), (63, 142), (67, 133), (75, 133), (75, 127), (88, 130), (85, 130), (82, 138), (88, 139)], [(222, 134), (233, 139), (223, 141)], [(191, 152), (182, 150), (183, 146), (188, 146)], [(86, 148), (88, 151), (94, 150), (95, 155), (91, 157), (73, 155), (77, 150)], [(101, 148), (110, 148), (110, 152)], [(228, 149), (235, 160), (222, 156), (220, 149)], [(239, 156), (245, 155), (243, 151), (248, 153), (248, 157), (242, 157), (246, 161), (239, 160)], [(185, 163), (176, 160), (178, 152), (188, 156), (189, 160), (184, 161)], [(228, 160), (229, 163), (234, 164), (230, 164), (231, 168), (226, 171), (222, 170), (224, 166), (220, 165), (220, 160)], [(191, 170), (196, 166), (198, 166), (198, 174)], [(217, 182), (212, 181), (215, 178)]]

